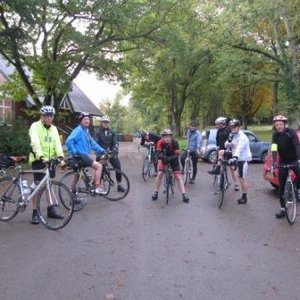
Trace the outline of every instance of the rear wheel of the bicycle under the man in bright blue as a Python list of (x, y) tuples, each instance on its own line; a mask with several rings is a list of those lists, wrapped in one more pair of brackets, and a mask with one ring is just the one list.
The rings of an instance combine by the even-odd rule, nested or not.
[(71, 171), (66, 173), (60, 182), (70, 189), (74, 202), (74, 211), (83, 209), (90, 195), (89, 186), (84, 177), (80, 176), (78, 172)]

